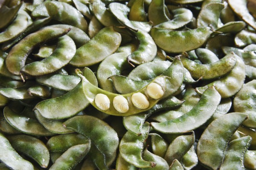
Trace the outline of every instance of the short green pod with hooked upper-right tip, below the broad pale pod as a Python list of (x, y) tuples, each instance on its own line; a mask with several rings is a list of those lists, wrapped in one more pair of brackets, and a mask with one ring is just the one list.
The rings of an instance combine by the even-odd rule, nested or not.
[(171, 165), (175, 159), (181, 161), (183, 156), (190, 150), (194, 142), (195, 134), (193, 131), (191, 135), (178, 136), (169, 145), (164, 156), (164, 159), (167, 161), (169, 165)]

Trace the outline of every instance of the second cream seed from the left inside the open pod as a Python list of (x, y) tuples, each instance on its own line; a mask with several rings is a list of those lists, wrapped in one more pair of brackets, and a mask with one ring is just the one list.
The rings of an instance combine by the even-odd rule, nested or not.
[(122, 95), (118, 95), (114, 97), (113, 105), (114, 105), (114, 108), (117, 110), (117, 112), (120, 112), (120, 113), (126, 113), (129, 110), (128, 101)]

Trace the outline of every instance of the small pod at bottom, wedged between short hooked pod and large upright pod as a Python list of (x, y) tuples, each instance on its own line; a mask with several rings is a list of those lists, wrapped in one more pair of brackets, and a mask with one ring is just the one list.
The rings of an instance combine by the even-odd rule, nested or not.
[(191, 170), (198, 164), (198, 157), (195, 153), (194, 145), (189, 149), (189, 151), (183, 156), (180, 161), (184, 170)]

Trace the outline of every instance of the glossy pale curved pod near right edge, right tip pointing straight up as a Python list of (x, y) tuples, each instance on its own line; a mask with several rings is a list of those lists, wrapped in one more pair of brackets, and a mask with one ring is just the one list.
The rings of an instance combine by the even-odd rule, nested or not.
[(236, 56), (236, 66), (226, 76), (213, 81), (203, 87), (197, 87), (196, 92), (202, 94), (209, 86), (215, 86), (215, 89), (221, 95), (221, 98), (229, 98), (235, 95), (244, 84), (245, 64), (241, 58)]

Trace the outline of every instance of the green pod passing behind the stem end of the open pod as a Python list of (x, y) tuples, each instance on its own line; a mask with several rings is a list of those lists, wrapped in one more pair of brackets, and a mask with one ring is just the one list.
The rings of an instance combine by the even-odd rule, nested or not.
[[(98, 85), (97, 79), (93, 72), (85, 67), (84, 76), (95, 86)], [(38, 110), (44, 118), (64, 119), (76, 115), (85, 109), (90, 103), (83, 94), (81, 82), (77, 86), (57, 98), (51, 98), (38, 103), (34, 109)], [(71, 109), (72, 108), (72, 109)]]

